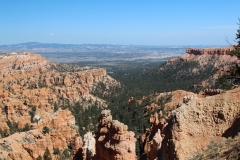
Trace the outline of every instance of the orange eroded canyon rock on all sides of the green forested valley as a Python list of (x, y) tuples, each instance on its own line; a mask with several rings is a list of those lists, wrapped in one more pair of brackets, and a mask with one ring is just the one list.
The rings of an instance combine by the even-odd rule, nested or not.
[[(231, 50), (231, 47), (189, 48), (165, 65), (195, 61), (199, 68), (190, 72), (197, 76), (201, 68), (211, 63), (215, 69), (210, 77), (213, 81), (227, 73), (229, 64), (239, 63), (236, 57), (230, 56)], [(142, 111), (151, 113), (149, 128), (145, 134), (136, 135), (127, 124), (112, 118), (106, 100), (91, 94), (101, 90), (104, 97), (121, 87), (106, 69), (73, 69), (30, 52), (1, 54), (0, 67), (0, 159), (40, 159), (46, 156), (47, 150), (53, 159), (191, 159), (207, 150), (213, 141), (234, 139), (240, 132), (238, 87), (229, 91), (155, 93)], [(205, 86), (213, 84), (212, 81), (206, 80)], [(168, 101), (163, 104), (164, 110), (159, 111), (157, 102), (163, 97), (168, 97)], [(130, 107), (134, 101), (134, 97), (126, 99)], [(76, 102), (85, 109), (93, 105), (102, 109), (96, 132), (78, 133), (79, 126), (69, 107)], [(141, 157), (136, 155), (138, 140), (143, 145)], [(223, 153), (219, 157), (226, 158)]]

